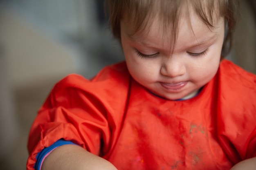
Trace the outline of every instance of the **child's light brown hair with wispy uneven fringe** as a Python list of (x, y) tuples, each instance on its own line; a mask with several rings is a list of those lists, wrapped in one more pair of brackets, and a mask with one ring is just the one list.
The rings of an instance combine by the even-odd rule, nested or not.
[(172, 26), (175, 42), (180, 10), (186, 4), (192, 5), (195, 13), (209, 29), (214, 27), (215, 16), (225, 19), (226, 33), (222, 46), (222, 57), (225, 57), (232, 46), (238, 0), (106, 0), (112, 33), (119, 40), (121, 19), (132, 25), (132, 34), (135, 34), (144, 31), (149, 18), (157, 14), (161, 17), (164, 26)]

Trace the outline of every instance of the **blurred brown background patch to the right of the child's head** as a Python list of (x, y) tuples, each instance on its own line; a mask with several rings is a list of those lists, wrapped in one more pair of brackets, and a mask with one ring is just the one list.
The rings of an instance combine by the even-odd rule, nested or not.
[[(239, 11), (238, 11), (239, 12)], [(240, 18), (234, 35), (233, 61), (256, 74), (256, 1), (240, 1)]]

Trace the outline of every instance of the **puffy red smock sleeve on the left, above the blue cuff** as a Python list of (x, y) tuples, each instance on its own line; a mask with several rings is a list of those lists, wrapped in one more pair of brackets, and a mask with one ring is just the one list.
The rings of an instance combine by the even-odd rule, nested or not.
[(68, 75), (58, 82), (31, 126), (27, 170), (34, 170), (38, 152), (59, 139), (107, 156), (122, 124), (129, 77), (123, 62), (104, 68), (92, 80)]

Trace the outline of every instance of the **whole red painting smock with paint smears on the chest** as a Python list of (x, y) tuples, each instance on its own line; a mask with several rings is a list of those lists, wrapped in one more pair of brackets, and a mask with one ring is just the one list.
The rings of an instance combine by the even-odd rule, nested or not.
[(61, 138), (118, 170), (229, 170), (256, 156), (256, 76), (223, 60), (197, 96), (171, 101), (135, 82), (125, 62), (92, 80), (68, 75), (31, 126), (27, 170)]

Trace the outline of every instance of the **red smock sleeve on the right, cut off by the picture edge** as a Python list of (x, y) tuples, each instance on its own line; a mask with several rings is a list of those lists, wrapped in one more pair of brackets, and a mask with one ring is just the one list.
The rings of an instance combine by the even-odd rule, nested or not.
[(218, 140), (236, 164), (256, 157), (256, 76), (224, 60), (218, 78)]

